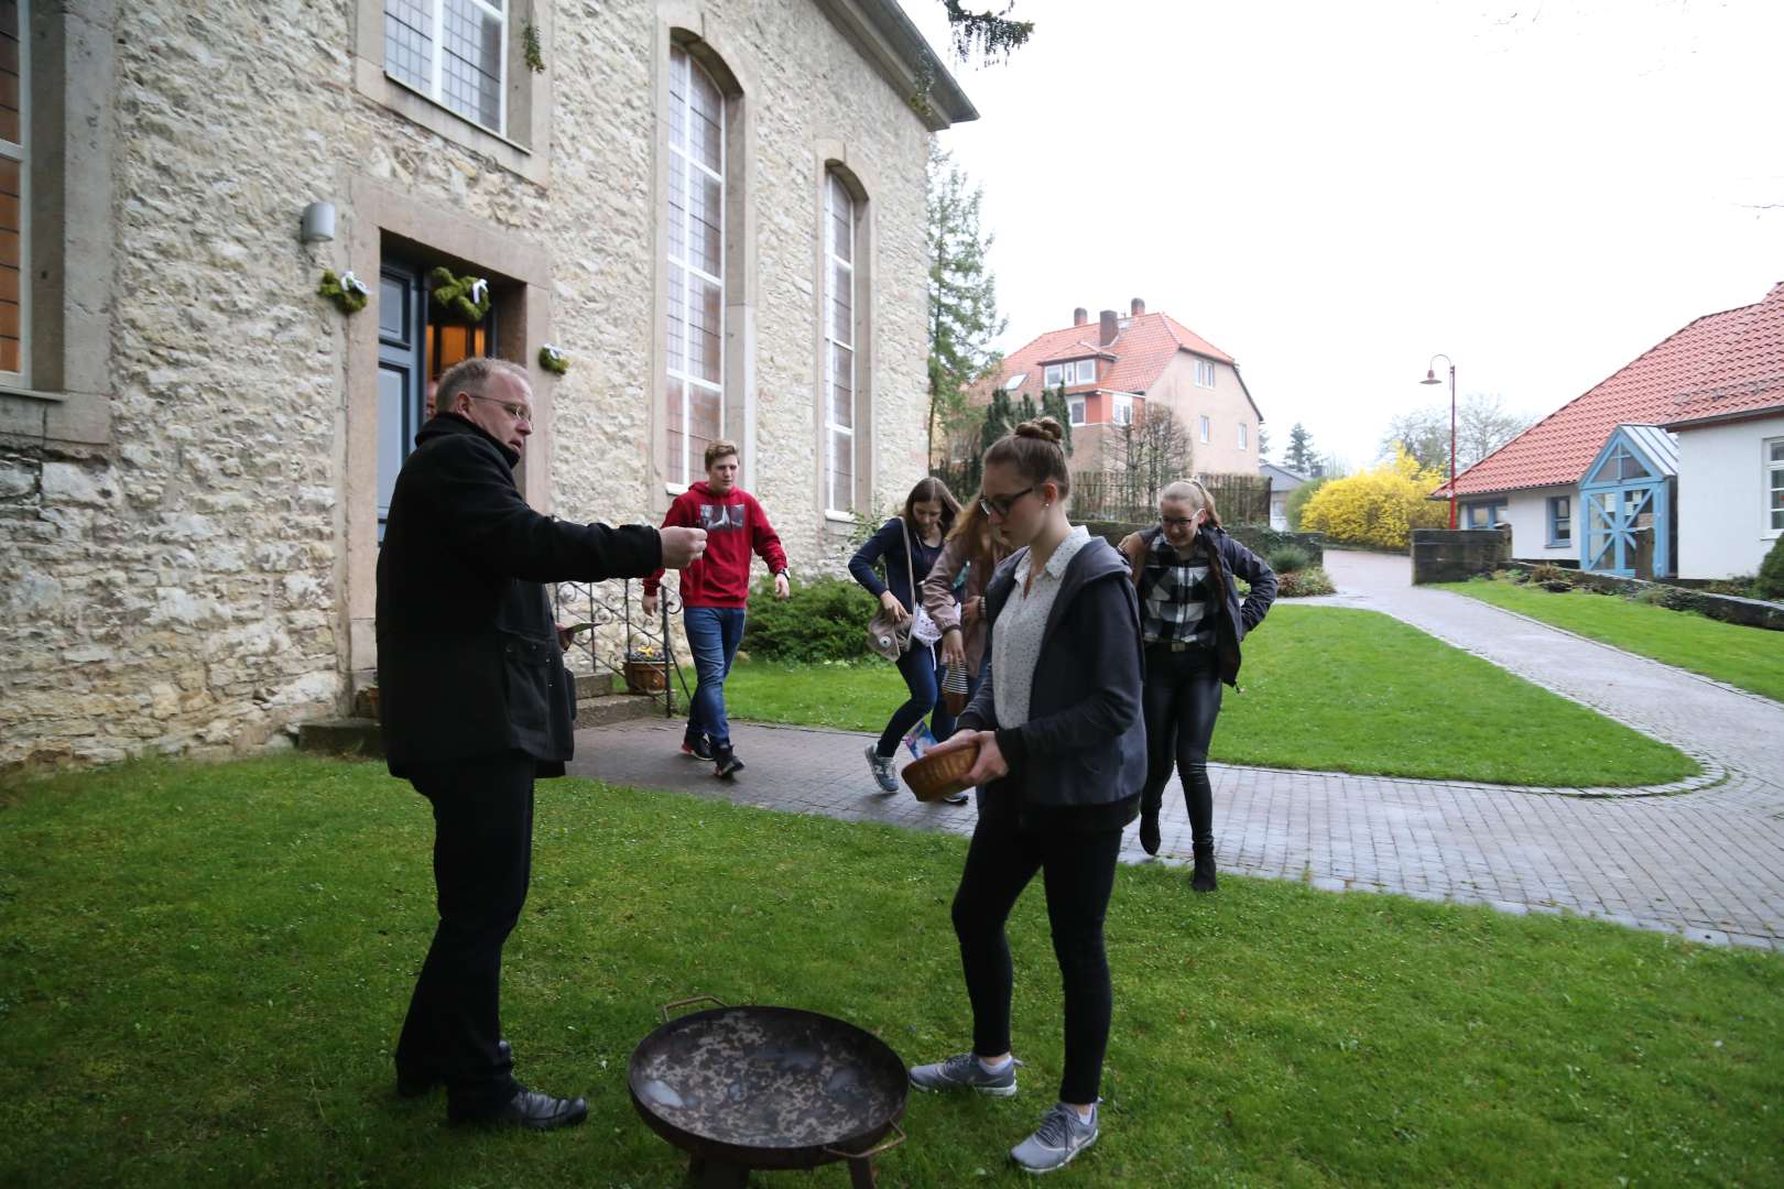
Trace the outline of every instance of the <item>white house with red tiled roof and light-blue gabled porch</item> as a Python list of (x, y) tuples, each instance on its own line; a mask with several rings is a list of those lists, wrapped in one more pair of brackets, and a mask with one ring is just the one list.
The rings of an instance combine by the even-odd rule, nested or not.
[[(1449, 499), (1449, 485), (1433, 499)], [(1784, 531), (1784, 283), (1706, 314), (1456, 476), (1461, 528), (1611, 574), (1752, 574)]]

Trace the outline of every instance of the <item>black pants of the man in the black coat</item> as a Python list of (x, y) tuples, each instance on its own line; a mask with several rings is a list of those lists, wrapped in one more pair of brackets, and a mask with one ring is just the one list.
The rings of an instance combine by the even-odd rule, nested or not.
[(414, 768), (434, 802), (439, 927), (409, 1000), (396, 1068), (446, 1078), (455, 1118), (494, 1111), (514, 1095), (501, 1039), (501, 945), (526, 904), (533, 856), (533, 758), (478, 756)]

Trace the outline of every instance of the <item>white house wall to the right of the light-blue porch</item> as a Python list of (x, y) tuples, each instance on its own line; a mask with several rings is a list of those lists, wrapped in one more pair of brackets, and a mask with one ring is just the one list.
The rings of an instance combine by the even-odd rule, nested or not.
[(1768, 439), (1784, 417), (1679, 430), (1679, 578), (1754, 574), (1779, 535), (1766, 508)]

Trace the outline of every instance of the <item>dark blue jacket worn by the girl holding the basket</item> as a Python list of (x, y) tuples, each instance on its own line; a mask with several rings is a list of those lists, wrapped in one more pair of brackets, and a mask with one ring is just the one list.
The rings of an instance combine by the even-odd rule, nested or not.
[[(985, 588), (994, 640), (1026, 556), (1028, 549), (1019, 549), (1006, 558)], [(1140, 603), (1127, 563), (1095, 538), (1065, 567), (1047, 615), (1028, 722), (997, 726), (995, 644), (985, 679), (960, 715), (965, 731), (995, 731), (1010, 763), (1010, 775), (979, 791), (981, 815), (1013, 809), (1024, 827), (1117, 829), (1133, 820), (1145, 783), (1142, 652)]]

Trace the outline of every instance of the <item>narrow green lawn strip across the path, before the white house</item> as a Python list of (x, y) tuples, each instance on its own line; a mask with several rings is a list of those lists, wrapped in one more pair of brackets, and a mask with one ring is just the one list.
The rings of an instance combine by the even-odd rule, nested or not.
[(1668, 611), (1579, 588), (1556, 594), (1497, 579), (1440, 583), (1440, 588), (1784, 701), (1784, 631), (1723, 624), (1695, 611)]

